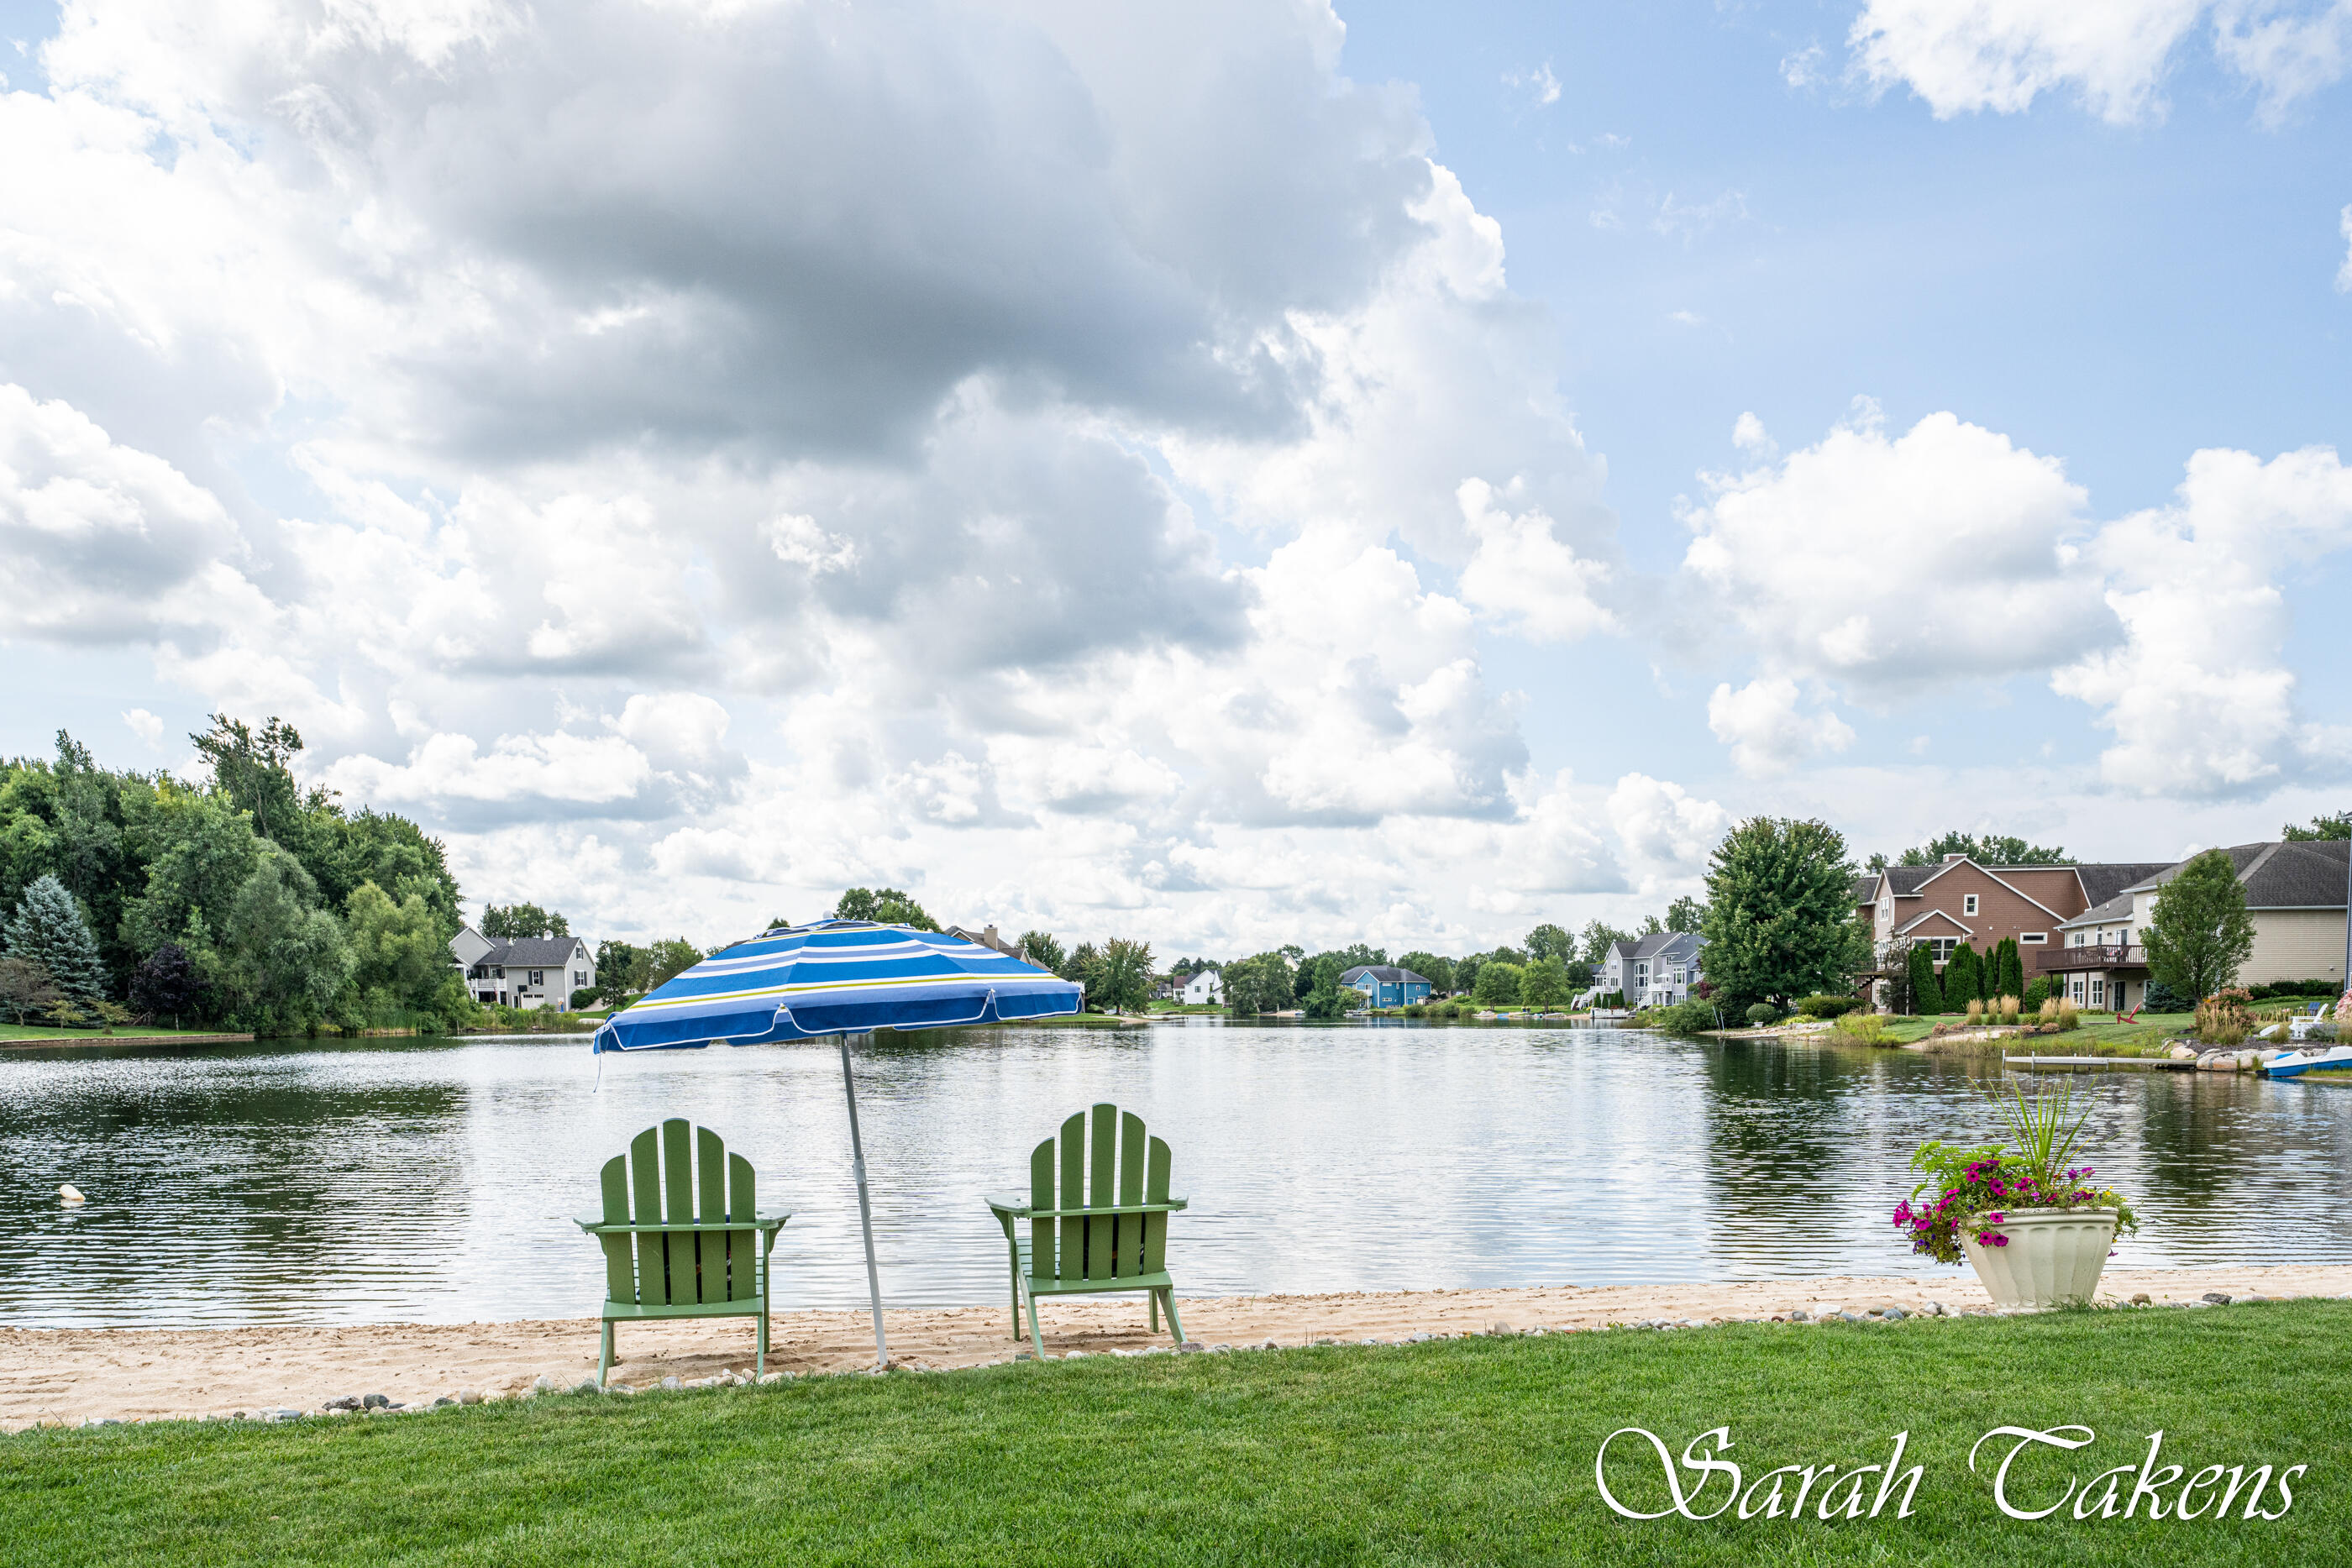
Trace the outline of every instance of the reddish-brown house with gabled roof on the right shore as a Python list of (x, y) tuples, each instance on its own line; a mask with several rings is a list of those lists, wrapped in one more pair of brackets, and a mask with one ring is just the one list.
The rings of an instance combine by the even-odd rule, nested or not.
[(1985, 954), (2002, 938), (2016, 938), (2025, 976), (2032, 978), (2034, 954), (2065, 943), (2067, 922), (2166, 865), (2166, 860), (2131, 860), (1985, 867), (1966, 856), (1945, 856), (1940, 865), (1889, 865), (1875, 877), (1867, 898), (1879, 961), (1903, 943), (1926, 943), (1940, 971), (1962, 943)]

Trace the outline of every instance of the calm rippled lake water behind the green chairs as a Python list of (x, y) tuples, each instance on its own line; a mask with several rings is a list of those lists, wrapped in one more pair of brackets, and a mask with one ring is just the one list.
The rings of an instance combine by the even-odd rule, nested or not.
[[(990, 1030), (856, 1058), (887, 1302), (1002, 1302), (981, 1197), (1117, 1100), (1176, 1152), (1190, 1295), (1919, 1272), (1889, 1225), (1922, 1138), (1990, 1133), (1997, 1072), (1907, 1051), (1616, 1030)], [(2352, 1088), (2114, 1072), (2089, 1147), (2140, 1197), (2119, 1262), (2352, 1258)], [(783, 1305), (866, 1279), (840, 1056), (604, 1058), (583, 1039), (0, 1058), (0, 1321), (188, 1326), (581, 1316), (572, 1215), (682, 1114), (790, 1208)], [(85, 1208), (61, 1208), (73, 1182)]]

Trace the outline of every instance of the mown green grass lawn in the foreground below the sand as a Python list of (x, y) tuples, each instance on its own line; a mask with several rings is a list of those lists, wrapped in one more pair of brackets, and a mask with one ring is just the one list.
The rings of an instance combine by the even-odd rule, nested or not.
[[(2070, 1312), (1087, 1359), (769, 1389), (555, 1396), (285, 1427), (0, 1439), (24, 1563), (2340, 1563), (2347, 1302)], [(2018, 1523), (1969, 1474), (1992, 1427), (2091, 1427), (2013, 1497), (2138, 1462), (2310, 1465), (2277, 1521)], [(1630, 1521), (1595, 1453), (1729, 1427), (1745, 1479), (1882, 1462), (1915, 1514)], [(1632, 1439), (1637, 1441), (1637, 1439)], [(1990, 1450), (1987, 1450), (1990, 1453)], [(1621, 1439), (1611, 1486), (1663, 1507)], [(1700, 1493), (1705, 1512), (1724, 1495)], [(2178, 1495), (2178, 1483), (2169, 1488)], [(2126, 1486), (2129, 1493), (2129, 1486)], [(2277, 1509), (2277, 1488), (2265, 1493)]]

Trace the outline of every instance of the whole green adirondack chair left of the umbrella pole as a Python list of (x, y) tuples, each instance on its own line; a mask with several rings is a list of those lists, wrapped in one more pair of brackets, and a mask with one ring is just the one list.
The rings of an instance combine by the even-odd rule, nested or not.
[[(689, 1157), (691, 1152), (691, 1157)], [(604, 1213), (576, 1225), (604, 1246), (604, 1354), (623, 1319), (755, 1316), (767, 1371), (769, 1251), (788, 1213), (762, 1213), (750, 1161), (708, 1126), (670, 1117), (604, 1161)]]

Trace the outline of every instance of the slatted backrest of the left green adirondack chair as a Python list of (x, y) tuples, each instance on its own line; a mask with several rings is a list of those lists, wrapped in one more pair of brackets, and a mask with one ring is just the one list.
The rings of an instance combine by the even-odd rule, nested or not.
[[(604, 1293), (616, 1302), (673, 1307), (760, 1295), (757, 1178), (708, 1126), (670, 1117), (604, 1161), (607, 1225), (727, 1225), (696, 1232), (619, 1232), (604, 1244)], [(743, 1225), (746, 1229), (731, 1229)]]

